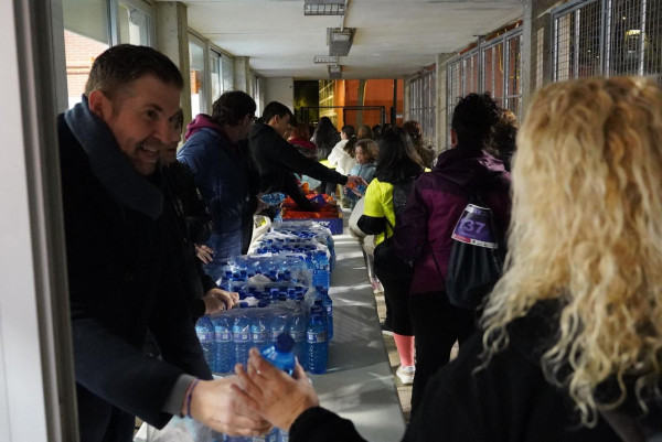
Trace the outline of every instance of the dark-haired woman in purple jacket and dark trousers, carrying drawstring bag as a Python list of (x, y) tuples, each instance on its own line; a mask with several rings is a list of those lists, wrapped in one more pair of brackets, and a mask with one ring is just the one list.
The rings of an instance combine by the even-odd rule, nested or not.
[(474, 331), (476, 313), (449, 304), (441, 278), (448, 269), (450, 236), (469, 195), (479, 193), (483, 197), (501, 235), (508, 226), (510, 173), (484, 151), (496, 118), (496, 104), (488, 94), (470, 94), (459, 100), (451, 121), (452, 149), (438, 157), (430, 173), (416, 180), (395, 226), (396, 252), (414, 261), (409, 288), (416, 343), (412, 413), (423, 399), (428, 378), (448, 364), (456, 341), (461, 344)]

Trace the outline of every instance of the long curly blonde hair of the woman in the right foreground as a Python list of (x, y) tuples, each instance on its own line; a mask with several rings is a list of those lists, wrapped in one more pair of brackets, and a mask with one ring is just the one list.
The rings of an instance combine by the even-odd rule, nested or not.
[[(624, 376), (643, 406), (661, 370), (662, 89), (643, 77), (579, 79), (545, 87), (530, 109), (506, 268), (481, 320), (487, 364), (508, 345), (510, 322), (540, 300), (560, 301), (541, 364), (594, 427), (599, 407), (624, 400)], [(620, 396), (598, 403), (609, 377)]]

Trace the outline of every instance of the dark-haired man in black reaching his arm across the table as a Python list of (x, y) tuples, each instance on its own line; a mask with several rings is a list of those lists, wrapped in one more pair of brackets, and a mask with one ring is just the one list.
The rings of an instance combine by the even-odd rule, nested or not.
[(305, 157), (287, 142), (285, 134), (293, 120), (295, 116), (287, 106), (271, 101), (265, 107), (259, 121), (250, 127), (248, 139), (255, 164), (259, 170), (261, 192), (284, 192), (291, 196), (300, 209), (314, 212), (316, 207), (298, 186), (295, 173), (334, 184), (345, 185), (351, 182), (367, 185), (360, 176), (342, 175)]

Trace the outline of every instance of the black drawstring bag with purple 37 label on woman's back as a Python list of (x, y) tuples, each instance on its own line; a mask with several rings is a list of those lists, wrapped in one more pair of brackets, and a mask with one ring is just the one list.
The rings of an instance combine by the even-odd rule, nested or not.
[[(480, 195), (469, 197), (452, 239), (448, 270), (442, 278), (446, 295), (455, 306), (476, 310), (501, 278), (505, 257), (492, 211), (483, 204)], [(435, 263), (441, 276), (436, 258)]]

